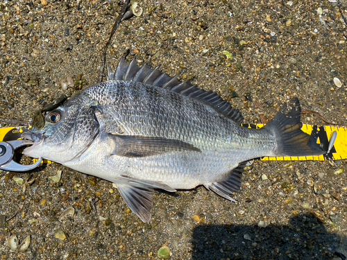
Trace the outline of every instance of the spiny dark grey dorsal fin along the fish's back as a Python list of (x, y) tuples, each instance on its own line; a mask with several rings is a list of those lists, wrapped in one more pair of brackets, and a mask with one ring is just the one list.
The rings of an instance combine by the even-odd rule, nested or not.
[(127, 64), (124, 58), (119, 60), (119, 64), (115, 73), (108, 67), (108, 80), (126, 80), (154, 85), (168, 89), (171, 92), (180, 93), (184, 96), (194, 98), (206, 105), (210, 105), (214, 110), (232, 119), (236, 123), (242, 123), (243, 117), (239, 110), (231, 107), (228, 101), (223, 100), (217, 93), (212, 91), (206, 92), (204, 89), (199, 89), (190, 81), (181, 82), (178, 76), (171, 77), (167, 73), (160, 71), (159, 67), (151, 69), (148, 64), (139, 67), (136, 58), (130, 64)]

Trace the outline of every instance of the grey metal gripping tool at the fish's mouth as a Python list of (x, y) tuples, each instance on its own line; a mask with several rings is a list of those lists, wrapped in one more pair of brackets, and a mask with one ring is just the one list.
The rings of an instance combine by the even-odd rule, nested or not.
[(19, 147), (33, 144), (30, 140), (14, 140), (0, 142), (0, 169), (3, 171), (31, 171), (33, 168), (40, 166), (42, 158), (39, 158), (35, 164), (19, 164), (13, 161), (15, 150)]

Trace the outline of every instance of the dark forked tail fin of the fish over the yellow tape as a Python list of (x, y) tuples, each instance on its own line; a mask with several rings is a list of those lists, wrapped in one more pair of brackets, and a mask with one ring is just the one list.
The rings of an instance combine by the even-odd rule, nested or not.
[(276, 156), (323, 155), (325, 151), (316, 140), (301, 131), (301, 106), (298, 98), (289, 101), (264, 129), (273, 132), (277, 141)]

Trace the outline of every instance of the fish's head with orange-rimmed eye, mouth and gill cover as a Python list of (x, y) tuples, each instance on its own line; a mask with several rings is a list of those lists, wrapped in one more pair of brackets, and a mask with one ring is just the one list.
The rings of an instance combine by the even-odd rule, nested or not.
[(34, 142), (24, 150), (24, 155), (61, 164), (81, 156), (99, 133), (93, 107), (76, 98), (46, 112), (42, 125), (42, 128), (34, 125), (24, 133), (24, 139)]

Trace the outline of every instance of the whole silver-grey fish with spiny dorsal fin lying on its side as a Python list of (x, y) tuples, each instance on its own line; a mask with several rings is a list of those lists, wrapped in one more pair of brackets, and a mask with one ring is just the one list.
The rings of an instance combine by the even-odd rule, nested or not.
[(219, 196), (239, 191), (247, 162), (264, 156), (325, 153), (301, 131), (301, 105), (292, 98), (259, 130), (217, 93), (169, 76), (136, 58), (121, 58), (107, 80), (44, 114), (24, 133), (24, 155), (49, 159), (114, 183), (144, 223), (154, 189), (204, 186)]

